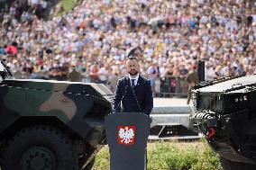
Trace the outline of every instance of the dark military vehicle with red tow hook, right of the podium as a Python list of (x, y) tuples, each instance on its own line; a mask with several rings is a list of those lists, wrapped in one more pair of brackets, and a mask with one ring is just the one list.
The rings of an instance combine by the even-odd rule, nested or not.
[(190, 129), (206, 135), (224, 169), (256, 169), (256, 75), (201, 83), (192, 98)]

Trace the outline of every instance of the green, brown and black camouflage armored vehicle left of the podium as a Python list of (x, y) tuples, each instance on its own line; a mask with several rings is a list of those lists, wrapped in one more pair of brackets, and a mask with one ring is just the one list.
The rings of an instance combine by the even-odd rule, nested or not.
[(91, 169), (112, 112), (105, 85), (14, 79), (0, 65), (1, 170)]

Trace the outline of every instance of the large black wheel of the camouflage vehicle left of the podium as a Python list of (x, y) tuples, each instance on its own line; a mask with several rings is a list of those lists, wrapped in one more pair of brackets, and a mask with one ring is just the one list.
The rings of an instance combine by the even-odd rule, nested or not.
[(62, 131), (26, 128), (8, 142), (2, 170), (78, 170), (76, 147)]

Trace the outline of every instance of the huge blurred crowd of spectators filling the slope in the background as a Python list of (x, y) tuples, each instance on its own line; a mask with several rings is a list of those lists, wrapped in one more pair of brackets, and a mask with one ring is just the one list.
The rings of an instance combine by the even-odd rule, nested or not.
[(206, 61), (206, 80), (256, 70), (251, 0), (87, 0), (49, 20), (41, 15), (49, 1), (9, 2), (0, 17), (0, 58), (17, 78), (75, 75), (114, 90), (134, 47), (156, 92), (160, 77), (185, 78), (198, 60)]

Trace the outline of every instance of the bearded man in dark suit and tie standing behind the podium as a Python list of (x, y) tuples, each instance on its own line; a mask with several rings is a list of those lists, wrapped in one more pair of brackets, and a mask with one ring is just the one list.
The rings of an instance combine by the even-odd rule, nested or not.
[(126, 60), (128, 76), (118, 80), (114, 94), (114, 112), (142, 112), (148, 116), (153, 108), (150, 80), (139, 75), (137, 58)]

